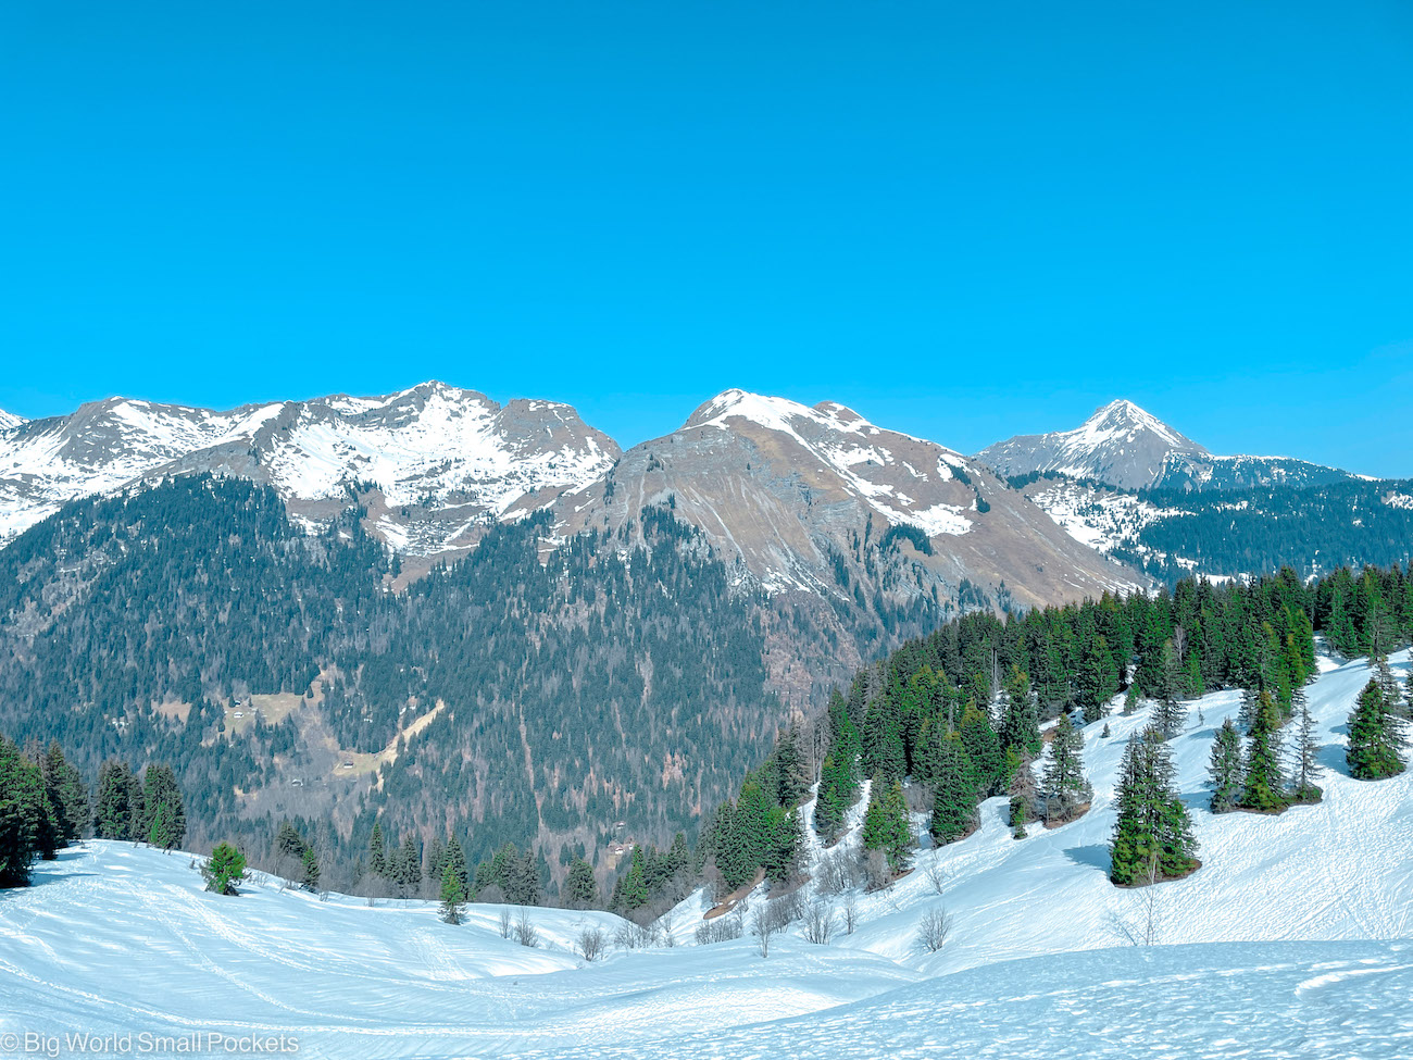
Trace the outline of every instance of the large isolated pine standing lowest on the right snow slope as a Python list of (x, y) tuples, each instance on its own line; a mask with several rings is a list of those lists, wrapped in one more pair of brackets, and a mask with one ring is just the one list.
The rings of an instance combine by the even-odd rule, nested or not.
[(1181, 876), (1194, 866), (1197, 840), (1173, 786), (1171, 752), (1157, 729), (1135, 734), (1123, 752), (1109, 844), (1109, 879), (1121, 886)]

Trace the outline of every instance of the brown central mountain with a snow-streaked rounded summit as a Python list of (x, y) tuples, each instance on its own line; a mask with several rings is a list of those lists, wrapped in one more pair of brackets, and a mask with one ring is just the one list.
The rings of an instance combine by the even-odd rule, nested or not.
[(777, 681), (796, 691), (784, 671), (822, 676), (827, 690), (959, 611), (1145, 584), (986, 468), (828, 401), (728, 390), (552, 510), (561, 533), (619, 531), (654, 506), (701, 530), (743, 585), (824, 630), (771, 643)]

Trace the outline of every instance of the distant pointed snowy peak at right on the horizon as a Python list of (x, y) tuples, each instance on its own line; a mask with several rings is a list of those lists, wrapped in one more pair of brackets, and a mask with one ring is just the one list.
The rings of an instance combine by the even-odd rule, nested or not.
[(1290, 457), (1218, 457), (1132, 401), (1111, 401), (1072, 431), (1023, 434), (976, 454), (1000, 475), (1057, 472), (1123, 489), (1313, 486), (1354, 478)]

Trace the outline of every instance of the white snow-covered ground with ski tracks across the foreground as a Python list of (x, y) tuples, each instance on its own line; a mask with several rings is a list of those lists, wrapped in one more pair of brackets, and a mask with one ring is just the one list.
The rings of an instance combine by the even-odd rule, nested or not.
[[(1108, 739), (1085, 729), (1084, 818), (1015, 841), (1005, 800), (989, 800), (975, 835), (858, 896), (852, 936), (811, 946), (796, 924), (767, 960), (749, 937), (694, 946), (697, 897), (677, 912), (678, 946), (585, 965), (578, 931), (616, 917), (531, 910), (531, 950), (500, 937), (499, 906), (451, 927), (434, 903), (319, 902), (266, 878), (218, 897), (189, 855), (88, 842), (37, 866), (37, 886), (0, 892), (0, 1057), (24, 1056), (6, 1035), (25, 1032), (57, 1037), (58, 1054), (78, 1053), (68, 1033), (222, 1032), (357, 1059), (1409, 1057), (1413, 776), (1345, 775), (1368, 669), (1321, 666), (1318, 806), (1211, 817), (1207, 756), (1239, 697), (1191, 705), (1173, 741), (1204, 862), (1188, 879), (1108, 883), (1115, 773), (1146, 711), (1115, 715)], [(952, 933), (924, 954), (917, 924), (938, 907)], [(1149, 924), (1159, 944), (1133, 947)]]

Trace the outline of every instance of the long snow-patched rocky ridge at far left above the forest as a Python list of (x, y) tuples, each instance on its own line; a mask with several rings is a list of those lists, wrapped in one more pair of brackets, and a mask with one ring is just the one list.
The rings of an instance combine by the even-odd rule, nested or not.
[(268, 482), (314, 520), (356, 493), (376, 533), (430, 555), (469, 547), (487, 519), (585, 485), (617, 452), (569, 406), (502, 407), (435, 382), (229, 411), (109, 399), (0, 432), (0, 541), (79, 496), (215, 471)]

